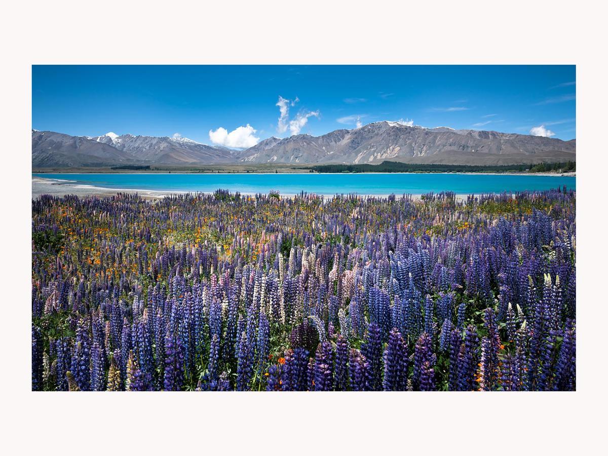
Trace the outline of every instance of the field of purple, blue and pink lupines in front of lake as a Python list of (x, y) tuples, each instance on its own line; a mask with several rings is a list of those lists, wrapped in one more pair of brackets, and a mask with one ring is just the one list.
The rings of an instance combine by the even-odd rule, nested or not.
[(32, 201), (32, 389), (576, 389), (576, 193)]

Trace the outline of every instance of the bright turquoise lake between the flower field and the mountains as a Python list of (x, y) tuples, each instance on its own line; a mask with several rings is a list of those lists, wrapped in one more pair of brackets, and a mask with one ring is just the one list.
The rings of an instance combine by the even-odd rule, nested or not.
[(33, 174), (41, 178), (60, 179), (66, 184), (92, 185), (129, 190), (163, 192), (214, 192), (218, 188), (241, 193), (282, 195), (300, 192), (319, 195), (358, 193), (389, 195), (451, 191), (460, 195), (479, 193), (522, 192), (563, 187), (576, 189), (573, 176), (528, 176), (503, 174)]

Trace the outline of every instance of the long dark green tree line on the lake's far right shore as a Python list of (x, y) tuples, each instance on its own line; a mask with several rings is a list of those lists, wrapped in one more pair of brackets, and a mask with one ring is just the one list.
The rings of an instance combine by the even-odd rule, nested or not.
[(379, 165), (311, 165), (297, 169), (310, 170), (311, 173), (508, 173), (510, 171), (542, 173), (560, 170), (566, 173), (576, 171), (576, 162), (537, 165), (435, 165), (384, 161)]

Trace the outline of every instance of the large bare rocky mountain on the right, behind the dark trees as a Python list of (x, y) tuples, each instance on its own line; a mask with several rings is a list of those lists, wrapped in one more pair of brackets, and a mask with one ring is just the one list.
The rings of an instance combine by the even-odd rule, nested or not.
[[(276, 139), (276, 138), (274, 138)], [(268, 140), (267, 140), (268, 141)], [(497, 131), (423, 128), (376, 122), (323, 136), (300, 134), (250, 148), (243, 162), (519, 164), (576, 159), (576, 140)]]

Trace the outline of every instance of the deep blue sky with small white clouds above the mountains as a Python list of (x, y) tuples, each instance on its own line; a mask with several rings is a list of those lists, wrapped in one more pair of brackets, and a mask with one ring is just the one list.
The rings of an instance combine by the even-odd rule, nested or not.
[(575, 81), (575, 66), (547, 65), (35, 65), (32, 128), (248, 147), (393, 120), (568, 140)]

